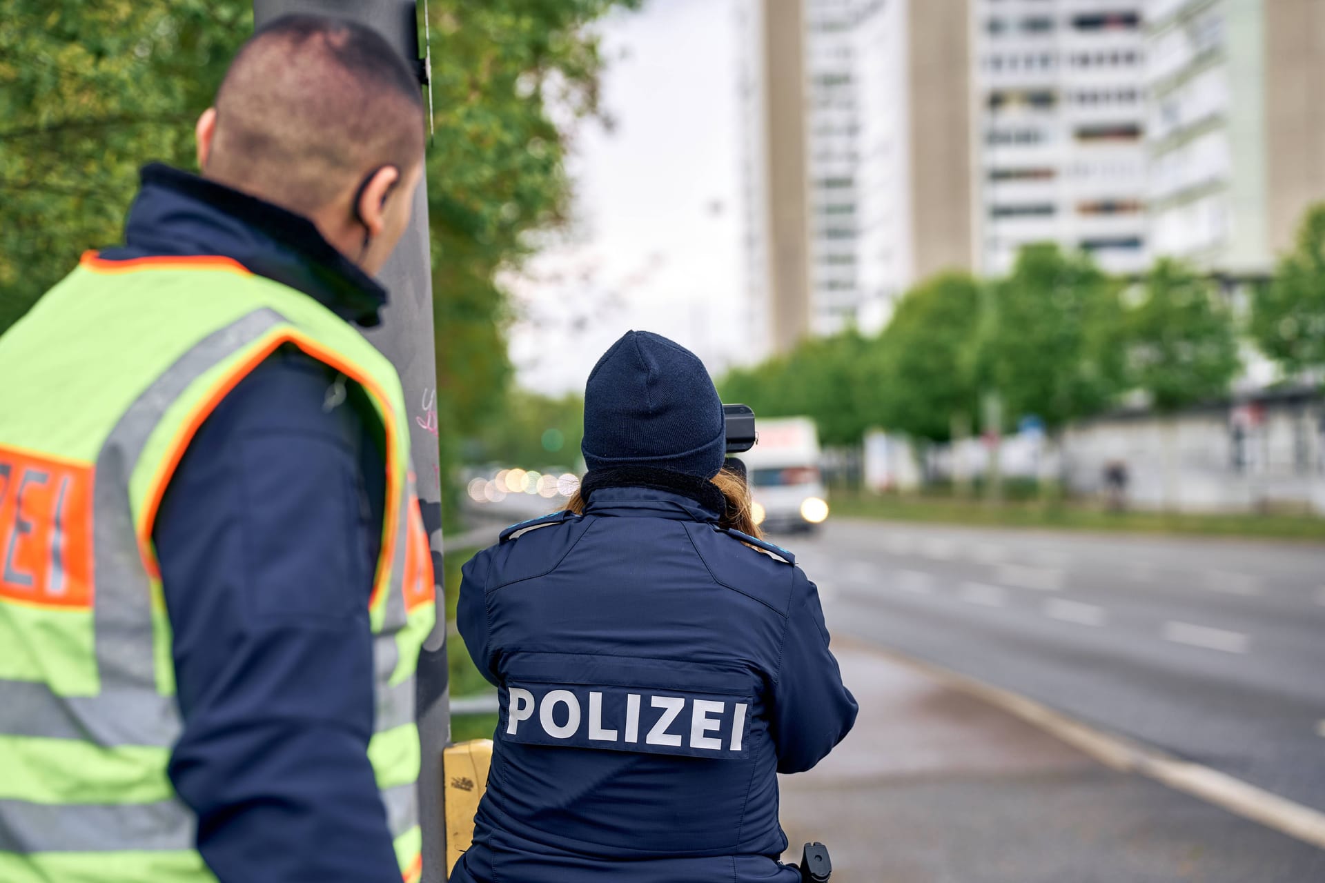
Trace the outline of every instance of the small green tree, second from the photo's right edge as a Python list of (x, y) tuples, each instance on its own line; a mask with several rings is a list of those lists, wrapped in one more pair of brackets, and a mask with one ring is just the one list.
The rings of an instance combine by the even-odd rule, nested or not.
[(1124, 318), (1132, 385), (1165, 413), (1223, 396), (1240, 364), (1230, 310), (1215, 286), (1161, 259), (1141, 294)]

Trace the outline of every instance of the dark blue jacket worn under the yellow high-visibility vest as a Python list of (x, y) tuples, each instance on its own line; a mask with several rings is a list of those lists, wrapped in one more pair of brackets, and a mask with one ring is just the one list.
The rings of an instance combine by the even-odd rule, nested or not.
[[(160, 254), (235, 258), (364, 324), (386, 298), (307, 220), (151, 165), (102, 257)], [(323, 408), (334, 381), (273, 353), (203, 424), (156, 518), (184, 718), (170, 776), (221, 883), (400, 879), (366, 753), (386, 470), (362, 393)]]

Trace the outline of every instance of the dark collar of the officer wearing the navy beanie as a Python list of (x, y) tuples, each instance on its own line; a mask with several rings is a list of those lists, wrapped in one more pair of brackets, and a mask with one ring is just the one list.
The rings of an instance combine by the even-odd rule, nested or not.
[(726, 499), (713, 482), (662, 469), (595, 469), (584, 475), (580, 492), (586, 515), (717, 522), (726, 511)]

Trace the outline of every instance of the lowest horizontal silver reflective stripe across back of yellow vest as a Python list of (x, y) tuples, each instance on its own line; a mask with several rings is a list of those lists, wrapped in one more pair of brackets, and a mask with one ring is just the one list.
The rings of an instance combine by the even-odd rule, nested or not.
[(0, 800), (0, 853), (191, 850), (193, 814), (178, 800), (123, 806)]

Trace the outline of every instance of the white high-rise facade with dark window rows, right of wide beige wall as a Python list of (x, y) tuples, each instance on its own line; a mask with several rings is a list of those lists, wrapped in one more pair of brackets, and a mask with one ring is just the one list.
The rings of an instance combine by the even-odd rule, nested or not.
[(975, 0), (980, 271), (1041, 241), (1145, 267), (1146, 5)]

